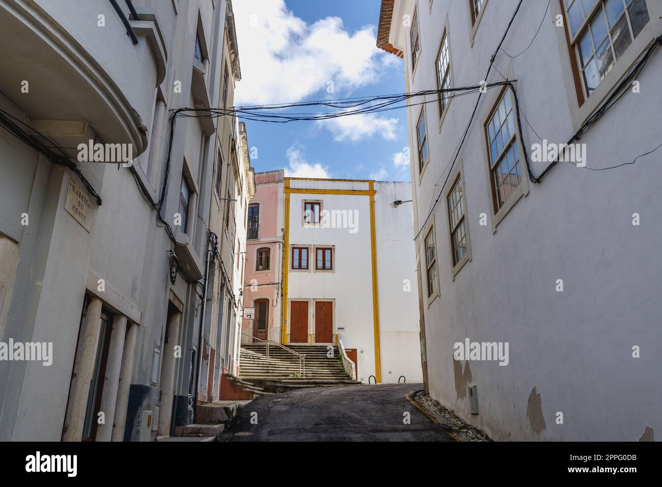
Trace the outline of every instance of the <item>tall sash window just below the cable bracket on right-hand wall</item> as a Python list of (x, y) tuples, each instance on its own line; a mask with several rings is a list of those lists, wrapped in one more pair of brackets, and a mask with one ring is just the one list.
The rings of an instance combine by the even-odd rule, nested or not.
[(522, 168), (510, 91), (504, 91), (485, 129), (496, 214), (522, 183)]

